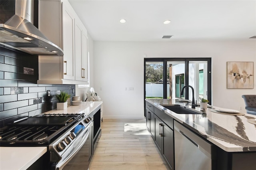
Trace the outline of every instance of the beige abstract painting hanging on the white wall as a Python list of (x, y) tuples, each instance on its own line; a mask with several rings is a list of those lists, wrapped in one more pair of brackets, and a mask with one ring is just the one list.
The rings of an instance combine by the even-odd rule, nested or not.
[(227, 89), (254, 88), (254, 62), (227, 62)]

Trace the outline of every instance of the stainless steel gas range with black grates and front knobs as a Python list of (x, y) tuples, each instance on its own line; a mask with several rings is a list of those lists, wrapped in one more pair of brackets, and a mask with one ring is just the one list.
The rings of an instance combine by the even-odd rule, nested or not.
[[(78, 152), (83, 168), (92, 156), (93, 117), (82, 114), (41, 114), (25, 117), (0, 128), (0, 146), (47, 146), (43, 166), (72, 169)], [(82, 150), (82, 151), (80, 151)]]

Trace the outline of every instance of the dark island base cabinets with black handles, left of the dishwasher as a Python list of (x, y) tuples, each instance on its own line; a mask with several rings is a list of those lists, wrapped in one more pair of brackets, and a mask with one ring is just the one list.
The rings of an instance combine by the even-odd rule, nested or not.
[(146, 126), (166, 164), (174, 170), (173, 118), (146, 102)]

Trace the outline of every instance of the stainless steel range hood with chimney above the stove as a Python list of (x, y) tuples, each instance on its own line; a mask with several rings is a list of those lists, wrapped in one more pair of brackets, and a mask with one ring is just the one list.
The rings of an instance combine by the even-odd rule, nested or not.
[[(34, 0), (0, 0), (1, 22), (15, 5), (15, 14), (0, 24), (0, 43), (33, 55), (63, 56), (63, 50), (50, 42), (33, 24)], [(13, 3), (9, 4), (9, 3)]]

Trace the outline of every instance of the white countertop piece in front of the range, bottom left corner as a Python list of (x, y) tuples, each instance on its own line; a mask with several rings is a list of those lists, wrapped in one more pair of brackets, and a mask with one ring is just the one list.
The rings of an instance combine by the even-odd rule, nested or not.
[(0, 147), (1, 170), (26, 170), (44, 153), (47, 147)]

